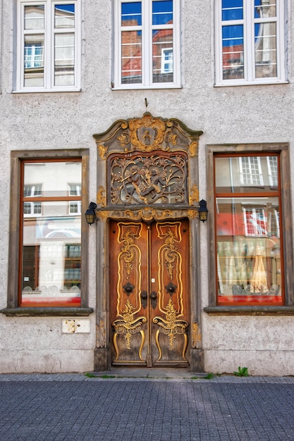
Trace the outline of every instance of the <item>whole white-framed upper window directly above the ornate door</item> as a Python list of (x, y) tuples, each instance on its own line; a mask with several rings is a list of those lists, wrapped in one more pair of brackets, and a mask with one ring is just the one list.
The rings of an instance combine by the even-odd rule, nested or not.
[(180, 87), (180, 0), (115, 0), (114, 89)]

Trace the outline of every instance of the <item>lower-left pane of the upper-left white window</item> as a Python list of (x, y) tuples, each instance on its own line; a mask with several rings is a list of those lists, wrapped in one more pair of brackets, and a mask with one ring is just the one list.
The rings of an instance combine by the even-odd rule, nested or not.
[(25, 87), (44, 85), (44, 35), (25, 35)]

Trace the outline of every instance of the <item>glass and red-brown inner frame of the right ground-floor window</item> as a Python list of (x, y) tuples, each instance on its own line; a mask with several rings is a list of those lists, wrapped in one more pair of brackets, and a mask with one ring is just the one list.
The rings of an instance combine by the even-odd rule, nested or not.
[(280, 304), (280, 192), (271, 185), (278, 156), (223, 155), (215, 161), (219, 303)]

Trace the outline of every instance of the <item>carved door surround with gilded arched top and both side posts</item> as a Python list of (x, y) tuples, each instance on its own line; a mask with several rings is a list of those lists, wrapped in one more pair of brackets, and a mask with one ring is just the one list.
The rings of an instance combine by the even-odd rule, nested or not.
[[(144, 113), (141, 118), (117, 120), (106, 132), (93, 135), (98, 149), (97, 333), (94, 371), (108, 371), (111, 364), (109, 219), (151, 222), (188, 218), (190, 224), (191, 316), (188, 331), (191, 341), (190, 367), (192, 372), (202, 372), (204, 369), (200, 314), (200, 221), (198, 218), (198, 141), (200, 135), (202, 135), (201, 130), (190, 130), (178, 119), (153, 117), (151, 113)], [(162, 174), (155, 170), (158, 163)], [(146, 170), (150, 173), (147, 174)], [(140, 177), (137, 180), (138, 171)], [(161, 182), (154, 180), (150, 176), (152, 173), (154, 178), (155, 175), (160, 178), (161, 174)], [(173, 175), (176, 176), (174, 180)], [(178, 185), (176, 180), (179, 181)], [(128, 185), (125, 185), (125, 182), (128, 182)], [(165, 191), (168, 186), (169, 191)]]

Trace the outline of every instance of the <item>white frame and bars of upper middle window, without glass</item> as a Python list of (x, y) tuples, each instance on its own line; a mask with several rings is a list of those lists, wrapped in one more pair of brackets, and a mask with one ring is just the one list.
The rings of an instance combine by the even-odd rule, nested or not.
[[(152, 25), (152, 1), (142, 3), (142, 82), (123, 84), (121, 81), (121, 4), (135, 0), (114, 1), (114, 72), (112, 89), (172, 89), (180, 88), (180, 0), (173, 0), (173, 24)], [(173, 29), (173, 82), (152, 81), (152, 31)], [(134, 27), (137, 30), (137, 27)], [(130, 30), (132, 28), (130, 27)], [(144, 49), (145, 48), (145, 49)], [(169, 48), (170, 49), (170, 48)]]

